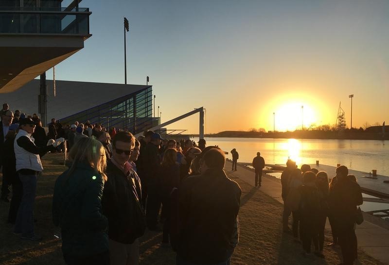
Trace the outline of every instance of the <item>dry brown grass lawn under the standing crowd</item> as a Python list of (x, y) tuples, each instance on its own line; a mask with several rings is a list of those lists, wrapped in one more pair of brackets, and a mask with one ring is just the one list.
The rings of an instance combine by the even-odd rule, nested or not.
[[(36, 232), (42, 234), (41, 242), (19, 239), (12, 233), (12, 225), (6, 222), (9, 204), (0, 202), (0, 264), (1, 265), (64, 265), (61, 242), (53, 234), (57, 229), (51, 217), (53, 185), (56, 177), (65, 167), (60, 165), (61, 154), (43, 157), (45, 171), (38, 178), (35, 200)], [(242, 188), (240, 210), (240, 243), (235, 249), (231, 264), (338, 264), (340, 250), (325, 248), (325, 259), (305, 258), (301, 255), (301, 245), (292, 236), (282, 233), (282, 204), (268, 197), (240, 179), (234, 179)], [(326, 235), (329, 242), (330, 235)], [(175, 264), (175, 253), (170, 248), (162, 248), (162, 234), (146, 232), (141, 238), (142, 265)], [(327, 243), (326, 242), (326, 243)], [(382, 264), (363, 252), (359, 263)]]

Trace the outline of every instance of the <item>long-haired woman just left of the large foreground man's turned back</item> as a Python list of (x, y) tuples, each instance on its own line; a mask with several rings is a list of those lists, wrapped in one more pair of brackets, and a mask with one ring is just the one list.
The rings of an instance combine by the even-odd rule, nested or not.
[(160, 167), (160, 182), (161, 182), (161, 199), (162, 213), (166, 218), (163, 224), (162, 244), (169, 243), (171, 215), (172, 215), (172, 192), (179, 186), (179, 164), (177, 163), (177, 150), (168, 148), (162, 159)]

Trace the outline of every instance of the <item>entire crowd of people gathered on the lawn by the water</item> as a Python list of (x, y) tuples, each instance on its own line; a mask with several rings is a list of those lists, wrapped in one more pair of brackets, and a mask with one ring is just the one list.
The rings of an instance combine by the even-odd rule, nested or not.
[[(230, 264), (238, 243), (241, 189), (223, 168), (225, 154), (200, 139), (162, 139), (145, 131), (106, 130), (100, 124), (55, 119), (48, 132), (39, 117), (0, 111), (1, 200), (10, 202), (8, 222), (21, 239), (41, 240), (34, 231), (40, 158), (69, 149), (69, 169), (55, 182), (53, 222), (61, 229), (62, 252), (69, 265), (138, 264), (139, 238), (145, 230), (162, 232), (162, 246), (177, 252), (178, 265)], [(67, 145), (64, 141), (67, 140)], [(231, 150), (232, 170), (239, 154)], [(357, 258), (355, 218), (362, 194), (346, 166), (326, 172), (288, 160), (282, 173), (283, 231), (301, 242), (304, 254), (324, 257), (324, 229), (330, 220), (333, 243), (343, 264)], [(265, 160), (253, 159), (255, 186), (262, 185)], [(12, 198), (10, 200), (10, 187)], [(288, 227), (293, 216), (292, 230)], [(299, 239), (300, 238), (300, 239)]]

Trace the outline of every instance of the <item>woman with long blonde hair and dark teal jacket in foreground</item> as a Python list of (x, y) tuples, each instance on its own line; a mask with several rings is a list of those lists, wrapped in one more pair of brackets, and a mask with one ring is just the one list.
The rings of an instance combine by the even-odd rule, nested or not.
[(62, 253), (69, 265), (108, 265), (108, 221), (101, 198), (106, 182), (106, 151), (81, 138), (69, 154), (71, 167), (55, 182), (53, 221), (61, 228)]

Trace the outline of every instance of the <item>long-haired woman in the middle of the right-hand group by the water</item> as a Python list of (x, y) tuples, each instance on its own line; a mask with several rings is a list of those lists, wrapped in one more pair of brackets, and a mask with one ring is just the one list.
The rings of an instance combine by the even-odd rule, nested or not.
[(328, 181), (328, 175), (325, 171), (320, 171), (316, 174), (316, 187), (319, 192), (319, 211), (318, 211), (318, 251), (315, 254), (324, 258), (323, 245), (324, 245), (324, 230), (325, 222), (328, 216), (328, 194), (330, 193), (330, 183)]

